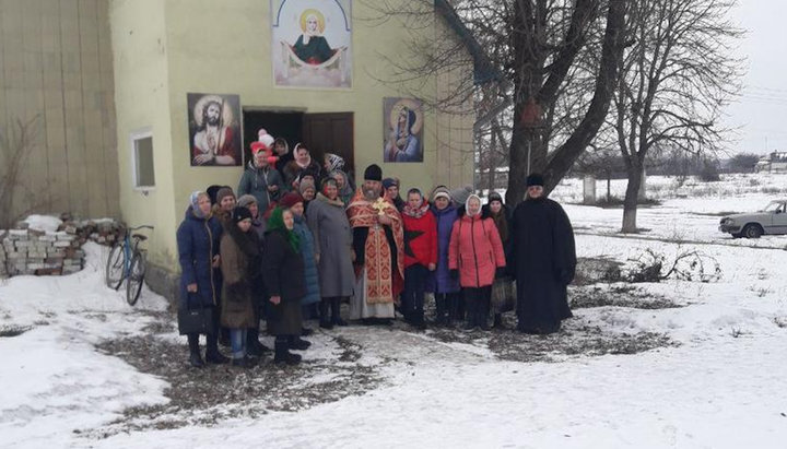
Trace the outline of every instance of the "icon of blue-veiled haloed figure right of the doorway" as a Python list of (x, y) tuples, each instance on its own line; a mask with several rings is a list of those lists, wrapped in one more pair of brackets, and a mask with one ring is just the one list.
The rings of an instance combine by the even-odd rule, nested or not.
[(383, 161), (423, 162), (423, 104), (413, 98), (383, 98)]

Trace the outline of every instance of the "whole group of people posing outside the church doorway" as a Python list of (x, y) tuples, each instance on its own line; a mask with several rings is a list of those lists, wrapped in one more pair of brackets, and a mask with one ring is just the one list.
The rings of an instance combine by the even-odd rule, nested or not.
[[(517, 329), (551, 333), (571, 317), (566, 286), (576, 255), (563, 209), (530, 175), (527, 198), (513, 210), (492, 192), (486, 201), (468, 189), (411, 188), (368, 166), (357, 189), (328, 155), (322, 165), (308, 150), (261, 131), (254, 159), (237, 191), (211, 186), (190, 196), (177, 231), (181, 265), (180, 307), (209, 309), (204, 358), (199, 334), (188, 333), (189, 362), (250, 367), (269, 351), (260, 322), (275, 336), (277, 363), (297, 364), (294, 351), (319, 327), (390, 323), (397, 310), (424, 329), (426, 293), (435, 300), (434, 326), (489, 330), (515, 310)], [(236, 196), (237, 193), (237, 196)], [(219, 351), (222, 334), (232, 359)]]

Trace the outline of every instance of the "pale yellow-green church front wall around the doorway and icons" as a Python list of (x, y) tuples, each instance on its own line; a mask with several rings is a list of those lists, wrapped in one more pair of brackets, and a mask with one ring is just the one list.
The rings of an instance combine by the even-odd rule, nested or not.
[[(424, 163), (383, 164), (383, 98), (402, 95), (378, 81), (379, 73), (385, 71), (379, 54), (396, 57), (398, 51), (404, 50), (407, 43), (402, 38), (402, 28), (393, 23), (373, 26), (371, 22), (357, 20), (374, 14), (364, 10), (367, 8), (364, 1), (353, 2), (354, 67), (353, 87), (349, 91), (273, 86), (269, 1), (145, 0), (132, 3), (117, 0), (113, 4), (113, 38), (118, 38), (114, 45), (122, 212), (130, 223), (156, 222), (155, 245), (150, 246), (154, 263), (178, 269), (175, 228), (187, 206), (189, 193), (213, 184), (235, 188), (242, 175), (240, 167), (190, 166), (186, 105), (189, 92), (238, 94), (243, 107), (351, 111), (354, 113), (357, 173), (362, 174), (368, 164), (380, 164), (384, 176), (401, 178), (404, 189), (472, 182), (472, 158), (466, 157), (472, 152), (471, 115), (427, 113)], [(127, 13), (136, 16), (126, 16)], [(144, 21), (140, 20), (142, 15)], [(126, 37), (132, 27), (138, 34), (134, 39)], [(156, 50), (158, 46), (161, 48)], [(133, 76), (126, 73), (130, 67), (126, 59), (132, 58), (148, 61), (142, 68), (134, 69)], [(149, 60), (151, 58), (154, 62)], [(470, 71), (471, 68), (460, 75), (472, 76)], [(448, 78), (456, 75), (458, 73), (447, 73), (442, 80), (431, 80), (426, 88), (434, 93), (432, 91), (438, 84), (449, 85)], [(154, 107), (141, 107), (140, 103), (150, 103)], [(124, 141), (128, 139), (128, 132), (142, 126), (153, 127), (156, 153), (156, 189), (148, 197), (126, 187), (131, 181), (130, 156), (127, 155), (130, 149)], [(275, 134), (274, 130), (269, 131)], [(155, 211), (155, 215), (151, 215), (151, 211)]]

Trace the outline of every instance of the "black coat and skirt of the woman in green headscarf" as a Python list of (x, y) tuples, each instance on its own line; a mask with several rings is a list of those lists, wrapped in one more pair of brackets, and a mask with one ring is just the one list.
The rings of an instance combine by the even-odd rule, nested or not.
[(268, 330), (273, 335), (299, 335), (303, 329), (301, 298), (306, 296), (304, 261), (281, 231), (266, 234), (262, 277), (268, 297), (280, 296), (269, 305)]

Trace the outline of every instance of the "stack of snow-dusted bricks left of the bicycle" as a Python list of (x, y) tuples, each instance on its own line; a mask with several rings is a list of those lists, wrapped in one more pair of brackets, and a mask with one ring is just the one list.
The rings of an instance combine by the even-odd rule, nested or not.
[(2, 239), (8, 275), (70, 274), (82, 270), (84, 251), (73, 234), (9, 229)]

